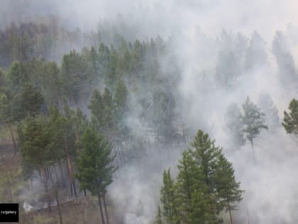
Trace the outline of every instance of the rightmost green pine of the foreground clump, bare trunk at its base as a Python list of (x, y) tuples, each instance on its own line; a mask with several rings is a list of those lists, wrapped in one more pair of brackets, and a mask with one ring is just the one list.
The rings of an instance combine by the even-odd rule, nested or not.
[(223, 154), (219, 155), (214, 181), (216, 197), (219, 198), (221, 208), (228, 211), (231, 224), (233, 224), (231, 210), (236, 210), (235, 203), (242, 200), (243, 191), (240, 189), (240, 182), (236, 182), (232, 164)]

